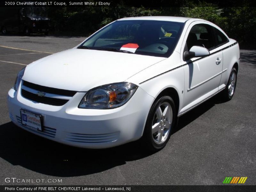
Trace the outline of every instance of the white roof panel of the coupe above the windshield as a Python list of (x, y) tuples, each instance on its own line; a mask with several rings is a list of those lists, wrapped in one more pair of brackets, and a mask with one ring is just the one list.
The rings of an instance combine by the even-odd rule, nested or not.
[[(158, 20), (158, 21), (173, 21), (185, 23), (187, 20), (202, 20), (188, 17), (172, 17), (172, 16), (144, 16), (144, 17), (127, 17), (119, 20)], [(202, 20), (205, 21), (205, 20)]]

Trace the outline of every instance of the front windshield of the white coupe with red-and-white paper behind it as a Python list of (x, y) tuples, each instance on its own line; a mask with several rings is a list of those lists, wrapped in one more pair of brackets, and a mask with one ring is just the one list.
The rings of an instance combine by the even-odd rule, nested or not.
[(156, 20), (119, 20), (102, 28), (78, 48), (169, 57), (184, 23)]

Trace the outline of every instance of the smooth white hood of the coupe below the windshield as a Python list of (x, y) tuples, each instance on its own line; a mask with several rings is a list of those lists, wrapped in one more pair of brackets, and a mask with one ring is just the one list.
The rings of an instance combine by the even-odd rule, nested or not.
[(69, 49), (29, 64), (23, 80), (47, 87), (88, 91), (123, 82), (163, 57), (88, 49)]

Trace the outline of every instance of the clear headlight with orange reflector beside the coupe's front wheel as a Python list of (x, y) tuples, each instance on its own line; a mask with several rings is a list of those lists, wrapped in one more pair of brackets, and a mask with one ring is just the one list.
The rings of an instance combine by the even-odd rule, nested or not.
[(88, 91), (78, 108), (109, 109), (124, 105), (134, 94), (137, 85), (132, 83), (115, 83), (103, 85)]

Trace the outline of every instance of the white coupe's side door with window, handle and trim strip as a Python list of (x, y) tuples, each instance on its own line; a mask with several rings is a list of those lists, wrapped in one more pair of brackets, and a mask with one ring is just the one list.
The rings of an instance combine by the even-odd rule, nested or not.
[(215, 38), (212, 27), (206, 23), (194, 22), (188, 27), (183, 42), (182, 53), (192, 46), (202, 46), (210, 55), (184, 60), (185, 84), (183, 109), (186, 111), (214, 93), (218, 92), (222, 71), (222, 52), (215, 49)]

